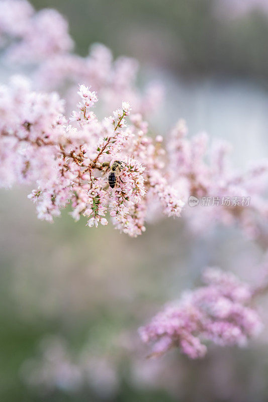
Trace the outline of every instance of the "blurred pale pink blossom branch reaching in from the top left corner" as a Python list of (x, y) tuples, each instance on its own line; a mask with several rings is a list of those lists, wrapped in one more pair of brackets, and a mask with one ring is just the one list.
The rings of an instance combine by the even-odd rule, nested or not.
[(56, 11), (35, 12), (27, 0), (0, 2), (0, 47), (6, 47), (4, 62), (28, 65), (39, 90), (61, 89), (68, 99), (76, 96), (79, 83), (92, 86), (102, 99), (104, 112), (128, 99), (133, 111), (148, 115), (159, 106), (162, 86), (150, 82), (143, 94), (136, 86), (136, 60), (120, 57), (113, 61), (111, 51), (102, 44), (92, 46), (86, 57), (72, 52), (73, 41), (67, 21)]

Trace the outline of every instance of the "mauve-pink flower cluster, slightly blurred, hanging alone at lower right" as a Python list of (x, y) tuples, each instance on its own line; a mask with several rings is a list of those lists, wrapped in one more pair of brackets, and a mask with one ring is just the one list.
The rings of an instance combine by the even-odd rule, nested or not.
[(241, 346), (259, 333), (260, 319), (249, 306), (254, 294), (249, 286), (215, 268), (205, 270), (203, 279), (205, 286), (185, 293), (140, 329), (144, 342), (154, 342), (152, 356), (178, 347), (196, 359), (207, 351), (202, 340)]

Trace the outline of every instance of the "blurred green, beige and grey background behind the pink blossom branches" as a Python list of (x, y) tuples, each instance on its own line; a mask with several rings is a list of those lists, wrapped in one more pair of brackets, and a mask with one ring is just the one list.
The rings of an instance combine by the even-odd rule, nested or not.
[[(159, 134), (185, 118), (233, 144), (244, 167), (267, 156), (268, 0), (33, 0), (66, 16), (76, 52), (102, 42), (138, 59), (139, 84), (161, 81)], [(251, 280), (263, 250), (237, 229), (199, 238), (182, 220), (137, 239), (112, 227), (37, 220), (30, 188), (1, 190), (0, 399), (243, 401), (268, 399), (266, 330), (246, 349), (211, 346), (147, 360), (137, 328), (217, 265)], [(262, 310), (265, 311), (265, 298)], [(264, 316), (264, 315), (263, 315)], [(265, 321), (265, 317), (264, 317)]]

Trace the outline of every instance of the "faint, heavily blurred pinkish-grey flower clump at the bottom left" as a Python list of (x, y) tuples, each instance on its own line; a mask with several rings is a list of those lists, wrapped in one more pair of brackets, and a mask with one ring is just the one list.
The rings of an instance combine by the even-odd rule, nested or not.
[(22, 378), (29, 386), (46, 392), (75, 392), (83, 386), (105, 397), (119, 386), (116, 362), (89, 354), (86, 346), (75, 355), (65, 339), (46, 336), (39, 344), (38, 356), (23, 363)]

